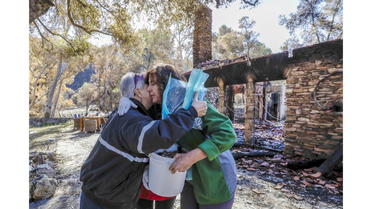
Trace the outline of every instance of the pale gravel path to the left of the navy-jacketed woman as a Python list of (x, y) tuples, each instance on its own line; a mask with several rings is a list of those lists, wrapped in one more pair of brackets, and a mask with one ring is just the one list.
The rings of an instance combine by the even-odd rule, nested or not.
[[(80, 129), (73, 131), (73, 125), (63, 126), (62, 128), (59, 126), (49, 126), (47, 128), (33, 129), (33, 131), (42, 129), (44, 132), (53, 132), (53, 136), (56, 138), (54, 144), (57, 144), (57, 161), (55, 164), (57, 189), (51, 198), (32, 202), (29, 204), (29, 208), (79, 208), (81, 165), (96, 143), (99, 133), (84, 134), (84, 132), (80, 132)], [(42, 150), (45, 146), (36, 144), (43, 139), (45, 141), (46, 138), (49, 138), (49, 134), (39, 137), (42, 139), (36, 140), (37, 138), (35, 137), (32, 141), (34, 145), (30, 146), (30, 148), (33, 147), (34, 150), (41, 148)]]

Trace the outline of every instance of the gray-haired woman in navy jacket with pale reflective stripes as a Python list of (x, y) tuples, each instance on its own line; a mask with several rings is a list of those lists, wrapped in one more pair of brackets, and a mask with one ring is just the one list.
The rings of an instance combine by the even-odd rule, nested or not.
[(194, 98), (189, 109), (180, 109), (166, 119), (153, 120), (153, 105), (144, 76), (127, 73), (120, 91), (137, 106), (124, 115), (114, 110), (88, 158), (81, 167), (80, 208), (135, 208), (148, 163), (146, 154), (167, 149), (192, 129), (197, 116), (206, 113), (206, 103)]

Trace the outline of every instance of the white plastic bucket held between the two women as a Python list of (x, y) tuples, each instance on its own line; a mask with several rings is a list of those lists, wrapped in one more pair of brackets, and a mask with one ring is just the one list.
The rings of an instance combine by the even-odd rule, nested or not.
[(155, 153), (149, 154), (149, 157), (148, 186), (151, 192), (163, 197), (173, 197), (181, 193), (185, 184), (186, 172), (177, 171), (172, 174), (169, 170), (169, 166), (176, 159), (162, 157)]

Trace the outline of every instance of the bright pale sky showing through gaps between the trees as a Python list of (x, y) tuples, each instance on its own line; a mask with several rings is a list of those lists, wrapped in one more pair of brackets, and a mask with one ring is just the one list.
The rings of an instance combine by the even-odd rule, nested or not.
[[(240, 0), (235, 1), (228, 8), (216, 9), (211, 6), (212, 31), (218, 32), (218, 28), (221, 25), (240, 30), (238, 28), (239, 19), (243, 16), (248, 16), (256, 21), (256, 26), (253, 27), (253, 30), (260, 33), (259, 41), (271, 48), (273, 53), (280, 52), (280, 45), (289, 38), (289, 32), (284, 26), (279, 25), (278, 17), (282, 14), (288, 16), (289, 13), (296, 12), (298, 0), (263, 0), (257, 8), (251, 10), (240, 10), (239, 5)], [(147, 24), (138, 22), (135, 25), (139, 27)], [(95, 45), (108, 44), (111, 42), (111, 37), (100, 35), (99, 39), (91, 39), (90, 42)]]

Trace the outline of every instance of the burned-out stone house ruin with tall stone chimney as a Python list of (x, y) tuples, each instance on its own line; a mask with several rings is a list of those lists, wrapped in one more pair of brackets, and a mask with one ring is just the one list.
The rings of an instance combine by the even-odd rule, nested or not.
[(267, 119), (269, 112), (285, 119), (285, 154), (327, 158), (339, 147), (343, 113), (334, 104), (343, 97), (342, 39), (294, 49), (293, 57), (284, 51), (218, 61), (211, 54), (212, 11), (203, 10), (194, 26), (193, 64), (209, 74), (206, 97), (233, 119), (234, 95), (243, 93), (247, 145), (255, 145), (255, 119)]

